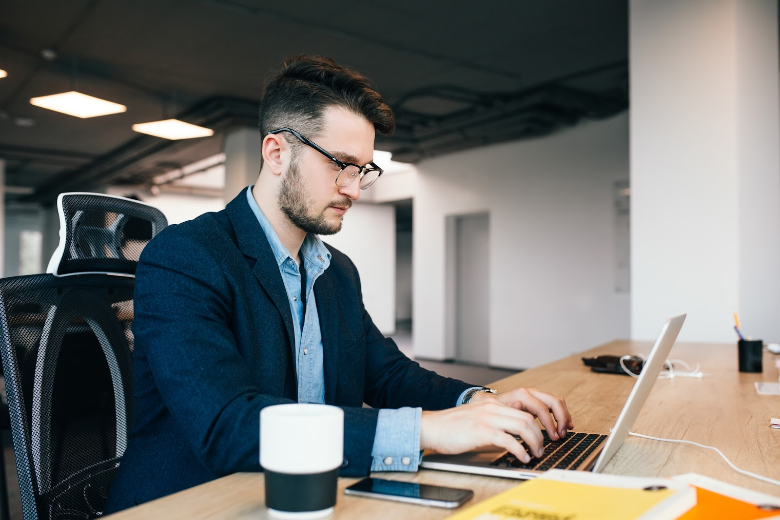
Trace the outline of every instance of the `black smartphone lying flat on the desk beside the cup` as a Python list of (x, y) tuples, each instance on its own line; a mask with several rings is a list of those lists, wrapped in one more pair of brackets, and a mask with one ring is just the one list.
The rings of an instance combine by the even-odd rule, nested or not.
[(416, 482), (374, 479), (368, 477), (344, 490), (348, 495), (381, 498), (388, 501), (408, 502), (434, 508), (457, 508), (474, 496), (472, 490), (457, 487), (430, 486)]

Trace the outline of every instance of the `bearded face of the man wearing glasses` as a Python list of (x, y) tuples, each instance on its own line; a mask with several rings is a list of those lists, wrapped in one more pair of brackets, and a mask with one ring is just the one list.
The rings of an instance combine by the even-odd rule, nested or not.
[[(374, 126), (342, 108), (325, 109), (320, 135), (307, 137), (341, 161), (368, 164), (374, 159)], [(333, 161), (301, 144), (279, 186), (279, 209), (304, 232), (339, 232), (346, 210), (360, 198), (360, 181), (342, 188), (336, 186), (337, 175)]]

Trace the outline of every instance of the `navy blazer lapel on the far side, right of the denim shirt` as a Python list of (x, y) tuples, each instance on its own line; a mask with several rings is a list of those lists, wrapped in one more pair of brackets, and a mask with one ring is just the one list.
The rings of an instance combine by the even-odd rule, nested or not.
[(338, 293), (327, 270), (314, 282), (314, 299), (322, 333), (325, 402), (328, 404), (335, 402), (339, 375), (339, 343), (336, 341), (339, 338), (339, 302), (334, 297)]

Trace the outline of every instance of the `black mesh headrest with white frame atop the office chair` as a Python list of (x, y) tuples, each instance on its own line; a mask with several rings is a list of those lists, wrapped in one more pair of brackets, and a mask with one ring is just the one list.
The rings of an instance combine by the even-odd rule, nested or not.
[(135, 276), (141, 251), (168, 225), (156, 207), (123, 196), (60, 193), (57, 206), (59, 245), (46, 269), (56, 276)]

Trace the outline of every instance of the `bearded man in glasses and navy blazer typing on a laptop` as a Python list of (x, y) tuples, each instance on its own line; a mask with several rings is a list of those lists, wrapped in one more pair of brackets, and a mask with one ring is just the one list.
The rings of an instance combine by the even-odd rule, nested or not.
[(288, 59), (268, 82), (260, 126), (254, 188), (168, 227), (140, 258), (136, 426), (108, 511), (261, 470), (260, 410), (279, 403), (344, 409), (349, 476), (416, 471), (425, 448), (495, 444), (527, 461), (542, 452), (535, 417), (553, 439), (573, 427), (560, 398), (492, 394), (407, 359), (363, 308), (355, 266), (317, 237), (338, 232), (381, 175), (374, 133), (395, 127), (363, 76), (328, 58)]

